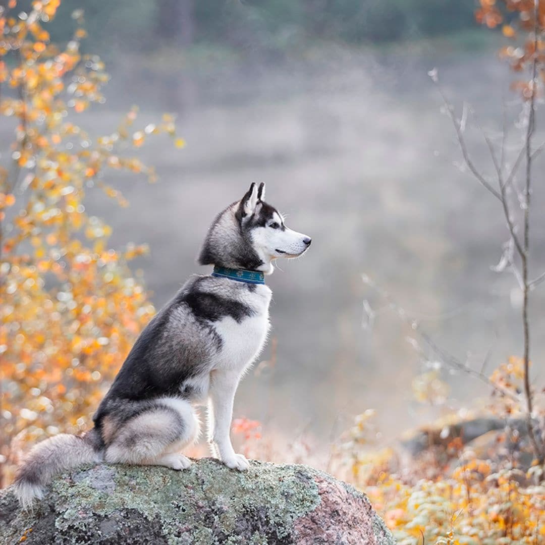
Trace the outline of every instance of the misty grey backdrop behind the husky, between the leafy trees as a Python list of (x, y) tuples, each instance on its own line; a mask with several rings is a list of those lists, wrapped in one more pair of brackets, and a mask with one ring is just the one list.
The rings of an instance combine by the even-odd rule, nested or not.
[[(83, 52), (100, 54), (112, 76), (106, 104), (81, 114), (82, 128), (107, 134), (138, 104), (135, 130), (168, 111), (187, 141), (179, 150), (149, 138), (138, 150), (156, 166), (158, 184), (111, 174), (129, 208), (88, 192), (88, 211), (113, 227), (113, 247), (149, 243), (137, 267), (156, 307), (190, 274), (209, 272), (195, 262), (207, 228), (252, 181), (267, 183), (267, 201), (312, 237), (304, 258), (278, 261), (267, 279), (272, 330), (260, 359), (268, 365), (256, 365), (235, 401), (235, 416), (262, 421), (265, 433), (282, 426), (289, 438), (307, 429), (328, 438), (374, 408), (391, 438), (448, 408), (486, 403), (486, 386), (448, 368), (445, 407), (414, 401), (411, 381), (434, 358), (408, 342), (415, 332), (363, 274), (476, 368), (487, 358), (492, 371), (522, 353), (520, 290), (509, 272), (490, 269), (508, 238), (500, 205), (459, 168), (452, 125), (427, 75), (436, 67), (445, 93), (459, 109), (472, 105), (494, 142), (502, 110), (508, 125), (517, 123), (522, 105), (496, 54), (504, 39), (474, 22), (475, 7), (474, 0), (63, 0), (52, 22), (52, 39), (69, 39), (70, 14), (84, 8)], [(537, 143), (541, 119), (538, 111)], [(467, 137), (475, 162), (492, 174), (482, 135), (468, 128)], [(512, 160), (520, 137), (513, 126)], [(540, 186), (537, 179), (532, 277), (545, 270)], [(543, 288), (532, 297), (537, 362)], [(364, 301), (376, 313), (372, 327)]]

